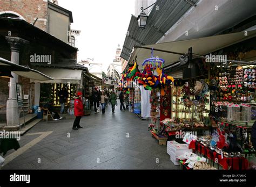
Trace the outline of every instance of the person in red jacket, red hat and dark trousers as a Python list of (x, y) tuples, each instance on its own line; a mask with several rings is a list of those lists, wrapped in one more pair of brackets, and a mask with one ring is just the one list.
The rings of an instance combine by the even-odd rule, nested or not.
[(82, 102), (82, 95), (83, 93), (78, 91), (77, 92), (77, 98), (75, 99), (75, 116), (76, 119), (74, 121), (73, 124), (73, 130), (78, 130), (78, 128), (83, 128), (80, 126), (80, 119), (82, 118), (82, 116), (84, 116), (84, 106), (83, 106), (83, 102)]

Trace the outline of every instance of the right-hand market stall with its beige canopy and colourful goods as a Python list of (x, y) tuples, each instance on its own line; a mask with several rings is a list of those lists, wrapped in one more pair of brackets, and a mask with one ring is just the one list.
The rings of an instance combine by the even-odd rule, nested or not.
[[(255, 47), (249, 40), (255, 34), (250, 31), (246, 37), (242, 33), (231, 33), (134, 46), (129, 62), (144, 61), (137, 67), (143, 73), (137, 70), (135, 80), (141, 81), (144, 89), (151, 90), (149, 129), (159, 145), (167, 144), (167, 153), (174, 164), (181, 164), (185, 169), (239, 170), (256, 165), (251, 141), (255, 139), (252, 126), (256, 124), (256, 59)], [(154, 59), (152, 52), (156, 51), (157, 56), (168, 62), (159, 68), (162, 73), (166, 69), (168, 75), (172, 75), (173, 69), (177, 72), (179, 79), (172, 81), (170, 93), (165, 92), (163, 80), (159, 84), (152, 75), (154, 66), (159, 65), (145, 64), (150, 51), (151, 60)], [(155, 60), (163, 63), (159, 57)], [(159, 77), (160, 71), (155, 75)], [(166, 118), (160, 120), (163, 113), (157, 106), (159, 103), (164, 106), (163, 100), (168, 103), (167, 98), (170, 116), (167, 109)], [(169, 141), (166, 143), (166, 140)], [(177, 146), (171, 145), (171, 140)]]

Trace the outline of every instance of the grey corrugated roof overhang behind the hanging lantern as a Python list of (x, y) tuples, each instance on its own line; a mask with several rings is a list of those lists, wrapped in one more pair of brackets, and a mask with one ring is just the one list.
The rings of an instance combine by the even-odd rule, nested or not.
[[(198, 0), (191, 0), (191, 2), (197, 3)], [(137, 17), (132, 15), (127, 30), (129, 34), (125, 37), (121, 57), (129, 60), (134, 45), (156, 44), (191, 7), (192, 5), (186, 1), (157, 0), (150, 12), (147, 26), (144, 30), (139, 28)]]

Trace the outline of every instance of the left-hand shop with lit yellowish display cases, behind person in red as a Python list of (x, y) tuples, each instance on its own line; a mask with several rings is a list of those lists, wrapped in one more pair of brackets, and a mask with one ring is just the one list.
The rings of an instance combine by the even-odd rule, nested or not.
[[(62, 70), (64, 71), (64, 70)], [(77, 72), (78, 71), (78, 72)], [(74, 114), (74, 97), (77, 91), (83, 92), (83, 104), (84, 104), (84, 114), (89, 115), (91, 113), (91, 95), (92, 89), (101, 85), (102, 81), (100, 78), (93, 76), (89, 72), (82, 70), (65, 70), (66, 74), (77, 73), (77, 79), (60, 79), (56, 78), (53, 81), (41, 82), (40, 84), (40, 102), (39, 107), (42, 107), (46, 103), (52, 103), (52, 106), (60, 110), (59, 103), (59, 91), (65, 88), (68, 91), (67, 102), (65, 103), (66, 113)], [(62, 73), (63, 74), (63, 73)], [(62, 76), (61, 76), (62, 77)], [(64, 77), (64, 76), (63, 76)]]

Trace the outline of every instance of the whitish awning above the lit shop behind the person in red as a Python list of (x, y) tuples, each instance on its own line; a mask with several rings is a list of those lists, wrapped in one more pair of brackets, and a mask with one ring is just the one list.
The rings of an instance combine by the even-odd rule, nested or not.
[(78, 69), (57, 69), (57, 68), (36, 68), (38, 71), (41, 71), (45, 75), (48, 75), (53, 78), (49, 81), (37, 81), (32, 80), (31, 82), (35, 83), (71, 83), (71, 84), (80, 84), (82, 80), (82, 71)]

